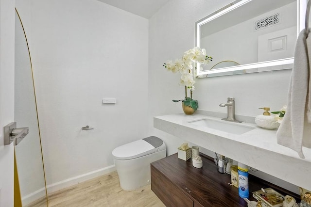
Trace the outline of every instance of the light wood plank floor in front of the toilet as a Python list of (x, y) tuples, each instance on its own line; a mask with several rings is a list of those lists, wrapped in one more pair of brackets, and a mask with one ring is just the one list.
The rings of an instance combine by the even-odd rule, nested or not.
[[(46, 207), (36, 203), (29, 207)], [(49, 207), (165, 207), (147, 185), (135, 191), (124, 191), (117, 172), (103, 175), (49, 196)]]

